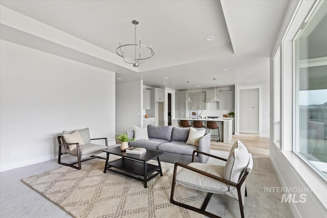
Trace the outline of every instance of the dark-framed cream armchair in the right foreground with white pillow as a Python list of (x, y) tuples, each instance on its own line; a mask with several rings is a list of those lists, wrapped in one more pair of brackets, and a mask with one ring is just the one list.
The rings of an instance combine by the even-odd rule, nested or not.
[[(227, 159), (200, 151), (196, 153), (225, 161), (225, 165), (192, 162), (188, 165), (175, 163), (170, 202), (178, 206), (202, 213), (209, 217), (220, 217), (205, 211), (213, 193), (226, 194), (239, 201), (241, 217), (244, 217), (244, 199), (247, 196), (245, 179), (251, 172), (253, 160), (244, 144), (233, 144)], [(177, 172), (177, 168), (181, 167)], [(174, 200), (176, 183), (207, 192), (201, 208), (196, 208)]]

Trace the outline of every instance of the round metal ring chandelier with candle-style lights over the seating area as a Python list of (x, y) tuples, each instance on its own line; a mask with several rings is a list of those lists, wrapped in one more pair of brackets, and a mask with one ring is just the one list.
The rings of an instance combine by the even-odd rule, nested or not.
[[(139, 43), (136, 43), (136, 25), (138, 25), (138, 20), (132, 20), (132, 23), (135, 28), (134, 44), (122, 45), (121, 41), (119, 41), (119, 47), (116, 49), (116, 53), (121, 56), (126, 63), (133, 64), (133, 67), (138, 67), (142, 60), (151, 58), (154, 55), (154, 51), (152, 46), (148, 47), (141, 44), (141, 38), (139, 38)], [(144, 48), (145, 57), (142, 56), (141, 48)], [(126, 50), (125, 53), (124, 49)]]

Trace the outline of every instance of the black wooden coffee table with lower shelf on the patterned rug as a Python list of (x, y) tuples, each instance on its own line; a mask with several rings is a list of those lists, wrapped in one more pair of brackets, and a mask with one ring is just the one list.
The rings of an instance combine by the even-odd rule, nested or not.
[[(103, 150), (103, 152), (107, 153), (106, 164), (104, 166), (103, 173), (106, 173), (108, 170), (108, 171), (112, 171), (112, 172), (115, 172), (115, 173), (118, 173), (121, 175), (131, 177), (131, 178), (139, 180), (139, 181), (143, 181), (145, 188), (147, 187), (147, 182), (150, 179), (154, 178), (155, 176), (157, 176), (159, 174), (160, 174), (160, 176), (162, 176), (159, 156), (164, 154), (164, 152), (147, 149), (147, 152), (145, 152), (141, 155), (126, 154), (125, 151), (121, 151), (120, 146), (110, 148), (110, 149), (105, 149), (105, 150)], [(121, 156), (122, 158), (108, 162), (110, 154), (118, 155), (118, 156)], [(154, 158), (157, 158), (158, 166), (147, 163), (148, 160), (151, 160)], [(120, 169), (121, 171), (118, 171), (113, 168)], [(134, 175), (142, 176), (143, 178), (139, 178), (134, 175), (126, 174), (126, 172), (129, 172)], [(155, 174), (153, 174), (153, 173), (155, 173)]]

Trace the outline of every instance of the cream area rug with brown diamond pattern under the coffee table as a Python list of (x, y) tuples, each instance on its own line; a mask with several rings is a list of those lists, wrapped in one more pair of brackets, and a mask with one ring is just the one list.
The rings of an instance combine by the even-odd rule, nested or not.
[[(161, 162), (164, 175), (150, 180), (148, 188), (126, 176), (104, 174), (104, 164), (95, 158), (80, 170), (63, 166), (22, 181), (74, 217), (203, 217), (170, 203), (174, 164)], [(175, 190), (175, 199), (191, 204), (200, 205), (204, 198), (205, 193), (183, 186)]]

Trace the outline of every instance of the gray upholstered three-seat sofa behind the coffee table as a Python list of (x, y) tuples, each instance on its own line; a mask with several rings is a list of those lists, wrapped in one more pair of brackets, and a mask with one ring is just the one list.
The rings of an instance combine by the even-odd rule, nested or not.
[[(198, 146), (186, 144), (190, 129), (172, 126), (152, 126), (148, 125), (148, 136), (150, 140), (130, 141), (129, 146), (142, 147), (151, 150), (165, 152), (161, 155), (160, 161), (175, 163), (181, 162), (189, 164), (192, 161), (193, 150), (210, 153), (210, 134), (205, 134), (199, 139)], [(126, 132), (129, 138), (134, 137), (134, 131)], [(197, 155), (195, 162), (206, 163), (208, 156)]]

